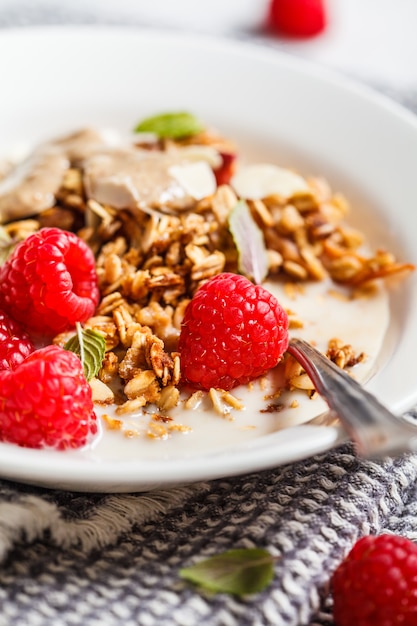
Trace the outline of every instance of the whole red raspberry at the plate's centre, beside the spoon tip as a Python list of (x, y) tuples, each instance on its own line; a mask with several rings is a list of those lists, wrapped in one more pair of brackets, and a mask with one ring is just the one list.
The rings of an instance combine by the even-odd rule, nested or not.
[(179, 340), (183, 380), (231, 389), (265, 374), (288, 346), (288, 317), (277, 299), (244, 276), (204, 283), (186, 308)]

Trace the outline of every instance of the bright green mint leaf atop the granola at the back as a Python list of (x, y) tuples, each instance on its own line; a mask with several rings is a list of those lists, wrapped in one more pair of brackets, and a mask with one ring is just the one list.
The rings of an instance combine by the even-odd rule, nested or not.
[(135, 128), (136, 133), (154, 133), (162, 139), (181, 139), (197, 135), (203, 130), (194, 115), (186, 112), (161, 113), (142, 120)]

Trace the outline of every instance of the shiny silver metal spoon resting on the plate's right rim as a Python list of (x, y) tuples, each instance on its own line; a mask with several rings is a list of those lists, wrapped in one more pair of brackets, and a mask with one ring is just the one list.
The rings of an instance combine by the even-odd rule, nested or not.
[(417, 426), (391, 413), (324, 354), (303, 339), (291, 339), (288, 352), (337, 414), (359, 454), (378, 458), (417, 450)]

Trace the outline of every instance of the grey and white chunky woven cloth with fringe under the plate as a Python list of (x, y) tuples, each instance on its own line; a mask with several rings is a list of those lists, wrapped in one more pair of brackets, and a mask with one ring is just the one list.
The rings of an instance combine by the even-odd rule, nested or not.
[[(329, 625), (329, 577), (355, 540), (417, 538), (417, 456), (348, 445), (239, 478), (146, 494), (0, 484), (0, 625)], [(266, 590), (209, 595), (179, 569), (230, 548), (279, 555)]]

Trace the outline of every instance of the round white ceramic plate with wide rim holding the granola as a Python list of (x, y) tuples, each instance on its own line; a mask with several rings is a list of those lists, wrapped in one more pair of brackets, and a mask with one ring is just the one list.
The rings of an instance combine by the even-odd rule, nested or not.
[[(352, 201), (374, 244), (417, 263), (417, 121), (400, 106), (259, 46), (120, 29), (0, 36), (1, 152), (86, 125), (130, 130), (186, 109), (240, 145), (320, 174)], [(417, 288), (391, 294), (391, 324), (368, 388), (393, 411), (417, 401)], [(360, 324), (360, 320), (358, 320)], [(100, 462), (1, 444), (0, 475), (50, 487), (134, 491), (273, 467), (326, 450), (336, 428), (298, 426), (197, 456)]]

